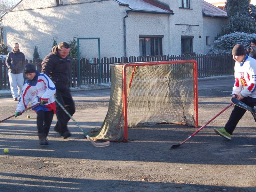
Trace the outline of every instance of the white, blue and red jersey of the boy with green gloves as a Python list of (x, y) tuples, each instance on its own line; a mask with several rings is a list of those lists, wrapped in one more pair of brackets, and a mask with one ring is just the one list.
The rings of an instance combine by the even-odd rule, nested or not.
[(34, 84), (32, 84), (29, 80), (24, 83), (16, 111), (23, 111), (26, 109), (29, 102), (31, 105), (35, 105), (38, 102), (41, 102), (41, 100), (47, 100), (47, 104), (38, 105), (32, 109), (36, 112), (39, 110), (53, 110), (55, 114), (56, 106), (54, 94), (56, 92), (56, 87), (47, 75), (36, 71), (36, 76), (37, 79)]

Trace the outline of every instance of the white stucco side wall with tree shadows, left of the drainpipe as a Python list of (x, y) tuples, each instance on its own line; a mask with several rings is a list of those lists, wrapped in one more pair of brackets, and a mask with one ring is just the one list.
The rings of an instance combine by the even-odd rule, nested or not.
[[(74, 36), (100, 37), (101, 57), (123, 56), (126, 13), (122, 7), (114, 1), (102, 1), (8, 12), (3, 20), (4, 43), (10, 46), (12, 42), (19, 42), (20, 51), (30, 60), (35, 46), (44, 58), (51, 51), (53, 37), (58, 43), (70, 41)], [(98, 57), (97, 40), (81, 40), (80, 43), (82, 56)]]

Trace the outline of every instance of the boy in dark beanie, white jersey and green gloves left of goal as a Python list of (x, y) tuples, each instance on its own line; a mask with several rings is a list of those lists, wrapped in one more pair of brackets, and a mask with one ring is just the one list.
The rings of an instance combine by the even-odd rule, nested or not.
[(23, 85), (20, 100), (15, 111), (15, 117), (21, 115), (20, 111), (27, 108), (28, 103), (40, 105), (32, 108), (37, 114), (37, 129), (39, 145), (48, 145), (47, 135), (49, 133), (53, 114), (56, 113), (54, 94), (56, 87), (52, 80), (45, 74), (39, 73), (32, 64), (24, 68), (27, 77)]

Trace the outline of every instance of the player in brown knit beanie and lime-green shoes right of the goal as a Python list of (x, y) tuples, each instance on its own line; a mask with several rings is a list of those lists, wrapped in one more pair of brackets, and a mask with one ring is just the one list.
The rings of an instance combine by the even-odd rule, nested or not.
[[(233, 59), (235, 63), (235, 83), (233, 86), (232, 97), (236, 97), (246, 105), (256, 108), (256, 60), (246, 55), (245, 48), (242, 44), (236, 44), (232, 50)], [(237, 123), (242, 118), (245, 109), (235, 105), (227, 124), (224, 128), (214, 128), (214, 131), (231, 140), (232, 133), (236, 128)], [(252, 113), (254, 120), (256, 116)]]

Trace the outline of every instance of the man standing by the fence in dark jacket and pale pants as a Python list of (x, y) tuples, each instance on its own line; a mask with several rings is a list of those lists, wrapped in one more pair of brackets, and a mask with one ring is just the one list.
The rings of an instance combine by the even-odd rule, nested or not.
[(26, 59), (25, 55), (20, 52), (19, 44), (14, 43), (13, 45), (12, 52), (7, 54), (5, 64), (8, 68), (12, 97), (17, 101), (24, 83), (23, 68), (25, 66)]

